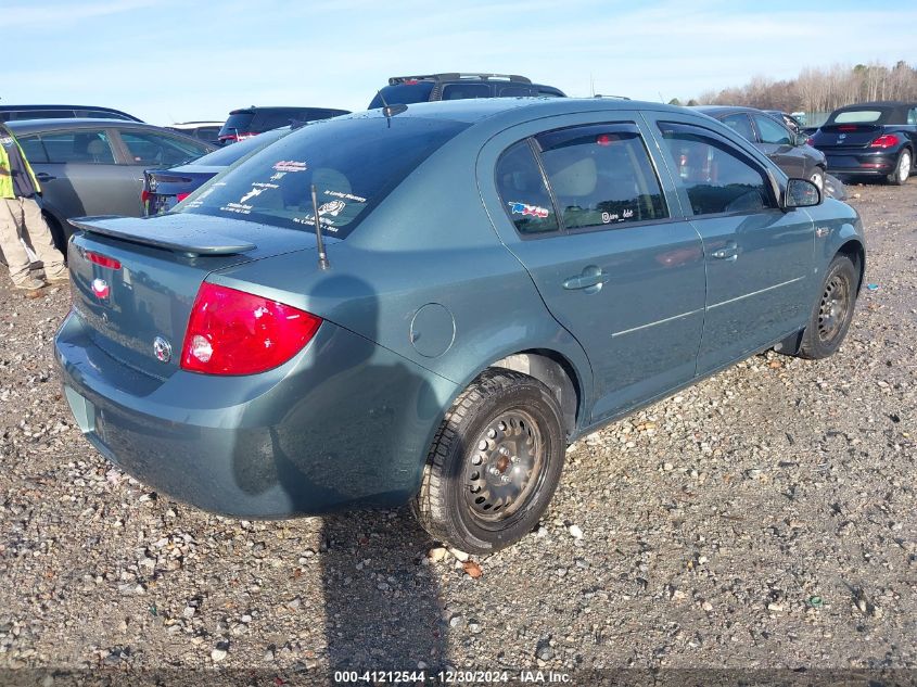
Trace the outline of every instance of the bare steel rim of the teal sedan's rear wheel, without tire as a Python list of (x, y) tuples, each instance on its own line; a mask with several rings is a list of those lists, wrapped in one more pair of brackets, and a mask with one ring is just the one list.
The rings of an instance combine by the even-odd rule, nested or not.
[(464, 494), (474, 518), (497, 523), (520, 511), (544, 473), (545, 441), (534, 418), (520, 408), (487, 422), (471, 446)]

